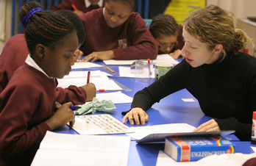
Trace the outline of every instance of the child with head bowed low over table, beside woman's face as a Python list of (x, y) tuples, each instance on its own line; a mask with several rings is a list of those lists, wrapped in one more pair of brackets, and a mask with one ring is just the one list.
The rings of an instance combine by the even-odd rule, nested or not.
[(177, 59), (184, 46), (182, 25), (178, 25), (171, 15), (160, 14), (152, 19), (149, 31), (157, 40), (158, 54), (170, 54)]

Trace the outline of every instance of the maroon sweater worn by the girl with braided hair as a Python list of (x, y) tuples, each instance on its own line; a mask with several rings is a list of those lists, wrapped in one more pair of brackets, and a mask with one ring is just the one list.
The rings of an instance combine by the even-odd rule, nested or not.
[(54, 114), (55, 79), (25, 64), (0, 94), (0, 165), (29, 165)]

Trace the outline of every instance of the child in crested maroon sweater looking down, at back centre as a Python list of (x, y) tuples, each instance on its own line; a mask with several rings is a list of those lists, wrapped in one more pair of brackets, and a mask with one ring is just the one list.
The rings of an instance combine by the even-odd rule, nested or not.
[(155, 59), (157, 43), (141, 16), (132, 12), (136, 0), (106, 0), (105, 7), (79, 15), (86, 40), (83, 61)]

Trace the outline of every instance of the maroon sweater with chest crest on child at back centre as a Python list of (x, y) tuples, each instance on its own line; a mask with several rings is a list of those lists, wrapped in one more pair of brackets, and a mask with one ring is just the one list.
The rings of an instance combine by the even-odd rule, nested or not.
[(104, 20), (103, 8), (79, 15), (85, 26), (85, 56), (93, 51), (113, 50), (115, 59), (155, 59), (157, 43), (145, 21), (132, 12), (121, 26), (110, 28)]

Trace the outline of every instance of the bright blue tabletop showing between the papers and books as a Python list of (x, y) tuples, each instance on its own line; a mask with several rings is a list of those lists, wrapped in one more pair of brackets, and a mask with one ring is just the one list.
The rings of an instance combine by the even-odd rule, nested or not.
[[(103, 62), (97, 62), (100, 65), (104, 65)], [(114, 71), (118, 71), (117, 65), (108, 65)], [(93, 71), (93, 70), (107, 71), (105, 68), (89, 68), (83, 71)], [(132, 91), (122, 90), (122, 93), (125, 93), (131, 97), (135, 95), (138, 90), (142, 90), (143, 87), (147, 87), (149, 84), (154, 82), (154, 79), (136, 79), (136, 78), (124, 78), (113, 76), (115, 81), (124, 84), (124, 86), (129, 87)], [(182, 98), (193, 98), (194, 102), (184, 102)], [(130, 109), (131, 104), (115, 104), (116, 109), (114, 112), (109, 113), (114, 118), (118, 120), (123, 119), (121, 112), (127, 111)], [(199, 126), (202, 123), (205, 123), (207, 120), (210, 120), (210, 117), (204, 115), (202, 110), (199, 107), (199, 103), (196, 98), (188, 92), (188, 90), (179, 90), (177, 93), (168, 95), (166, 98), (163, 98), (159, 103), (156, 103), (152, 106), (151, 109), (147, 110), (149, 115), (149, 122), (145, 126), (166, 124), (166, 123), (188, 123), (191, 126)], [(132, 127), (129, 123), (126, 123), (127, 126)], [(65, 134), (77, 134), (76, 131), (70, 129), (68, 126), (63, 126), (55, 130), (57, 133)], [(125, 135), (125, 134), (118, 134)], [(235, 143), (235, 153), (243, 154), (252, 154), (252, 145), (251, 142), (241, 142), (238, 140), (235, 135), (228, 136), (232, 142)], [(156, 165), (157, 155), (160, 150), (163, 151), (164, 142), (158, 143), (147, 143), (147, 144), (138, 144), (134, 140), (130, 143), (129, 148), (129, 160), (128, 165)]]

